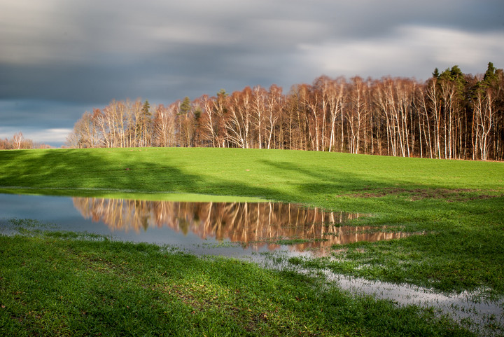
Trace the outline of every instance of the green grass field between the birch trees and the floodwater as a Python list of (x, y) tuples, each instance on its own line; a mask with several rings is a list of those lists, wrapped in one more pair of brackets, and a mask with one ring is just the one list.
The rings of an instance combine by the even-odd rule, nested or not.
[[(291, 262), (440, 291), (485, 289), (497, 296), (504, 294), (504, 163), (240, 149), (0, 151), (0, 186), (4, 193), (158, 200), (174, 198), (174, 193), (188, 193), (184, 198), (193, 200), (215, 195), (220, 200), (278, 200), (371, 214), (354, 223), (425, 234), (333, 247), (337, 259), (296, 258)], [(26, 249), (31, 249), (31, 240), (36, 239), (24, 240)], [(2, 254), (13, 253), (3, 250)], [(111, 266), (118, 263), (120, 260), (114, 260)], [(289, 277), (296, 282), (295, 276)], [(0, 278), (0, 291), (6, 282)], [(157, 279), (147, 282), (157, 284)], [(367, 305), (377, 308), (374, 305), (379, 304)], [(245, 324), (239, 322), (239, 326)], [(194, 324), (205, 326), (200, 321)], [(318, 322), (314, 326), (325, 325)], [(356, 326), (363, 336), (381, 334), (362, 322)], [(278, 333), (275, 331), (269, 333)], [(325, 336), (335, 333), (327, 327), (321, 331)], [(358, 330), (352, 333), (359, 334)], [(408, 334), (414, 333), (404, 336)]]

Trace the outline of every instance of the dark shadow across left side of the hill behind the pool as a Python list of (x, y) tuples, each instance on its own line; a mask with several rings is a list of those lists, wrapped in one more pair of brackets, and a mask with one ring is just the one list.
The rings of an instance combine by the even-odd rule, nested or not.
[[(130, 151), (131, 158), (125, 156)], [(133, 197), (138, 193), (200, 193), (300, 201), (253, 182), (188, 173), (183, 165), (172, 164), (171, 155), (156, 161), (139, 156), (139, 151), (142, 149), (3, 151), (0, 191), (66, 196), (131, 193)]]

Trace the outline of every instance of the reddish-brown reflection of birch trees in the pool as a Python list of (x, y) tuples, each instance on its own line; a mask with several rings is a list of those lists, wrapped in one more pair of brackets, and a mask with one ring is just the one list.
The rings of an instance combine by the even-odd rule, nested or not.
[(147, 230), (167, 226), (184, 235), (228, 239), (232, 242), (269, 242), (300, 239), (297, 249), (343, 245), (349, 242), (402, 238), (405, 233), (384, 233), (369, 226), (338, 226), (358, 214), (325, 212), (278, 202), (169, 202), (73, 198), (87, 219), (103, 221), (111, 230)]

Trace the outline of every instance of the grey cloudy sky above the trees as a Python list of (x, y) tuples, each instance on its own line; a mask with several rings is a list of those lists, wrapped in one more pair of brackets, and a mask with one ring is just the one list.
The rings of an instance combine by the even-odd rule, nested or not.
[(504, 67), (503, 0), (2, 0), (0, 137), (60, 146), (112, 99), (488, 62)]

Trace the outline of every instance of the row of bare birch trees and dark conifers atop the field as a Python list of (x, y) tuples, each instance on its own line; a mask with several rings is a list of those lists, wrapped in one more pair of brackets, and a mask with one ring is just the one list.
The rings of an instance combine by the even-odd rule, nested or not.
[(113, 100), (85, 112), (76, 148), (211, 146), (503, 160), (504, 76), (458, 66), (413, 78), (330, 78), (202, 95), (165, 106)]

